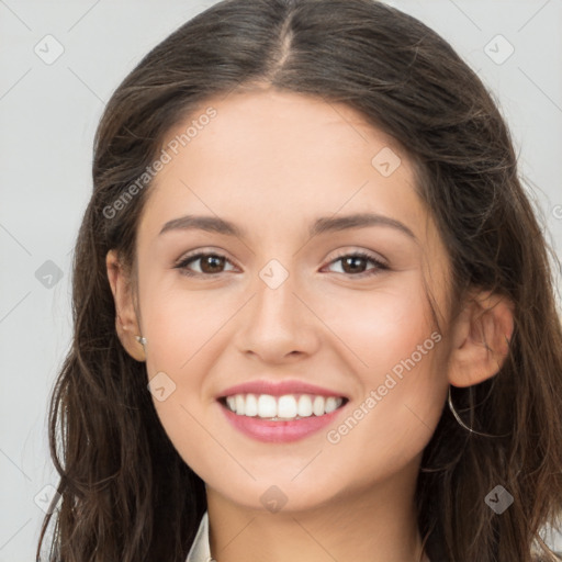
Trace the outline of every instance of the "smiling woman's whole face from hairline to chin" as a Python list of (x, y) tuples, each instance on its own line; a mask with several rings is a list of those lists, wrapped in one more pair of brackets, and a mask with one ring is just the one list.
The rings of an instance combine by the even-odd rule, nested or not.
[(138, 227), (164, 428), (249, 508), (413, 482), (448, 387), (427, 291), (446, 311), (449, 266), (406, 156), (344, 104), (263, 90), (209, 105), (169, 133), (162, 148), (198, 121)]

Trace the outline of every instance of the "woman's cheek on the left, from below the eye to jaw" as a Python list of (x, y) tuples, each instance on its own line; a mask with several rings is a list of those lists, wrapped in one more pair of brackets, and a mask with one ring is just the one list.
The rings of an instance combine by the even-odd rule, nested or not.
[(207, 477), (217, 459), (225, 461), (220, 439), (213, 439), (221, 435), (214, 426), (220, 412), (211, 398), (209, 373), (227, 344), (227, 330), (221, 328), (238, 306), (235, 299), (220, 299), (213, 291), (161, 286), (150, 291), (148, 283), (145, 286), (145, 300), (140, 302), (143, 330), (148, 340), (148, 378), (166, 374), (161, 379), (166, 398), (158, 400), (158, 394), (153, 393), (153, 402), (184, 462)]

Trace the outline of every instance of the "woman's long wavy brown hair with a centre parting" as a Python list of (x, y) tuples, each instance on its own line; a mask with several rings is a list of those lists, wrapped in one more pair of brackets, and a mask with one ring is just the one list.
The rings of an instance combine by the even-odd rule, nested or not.
[[(170, 130), (254, 82), (345, 102), (414, 162), (453, 270), (515, 304), (494, 378), (453, 389), (424, 451), (416, 502), (432, 562), (555, 560), (539, 536), (562, 509), (562, 330), (551, 261), (509, 132), (479, 77), (438, 34), (374, 0), (226, 0), (154, 48), (116, 89), (95, 137), (93, 193), (74, 261), (74, 341), (52, 396), (60, 506), (49, 560), (183, 562), (206, 507), (201, 479), (156, 415), (145, 364), (115, 331), (105, 255), (134, 262), (149, 182), (119, 209)], [(220, 117), (218, 117), (220, 119)], [(111, 212), (108, 212), (110, 209)], [(514, 497), (502, 515), (484, 498)]]

